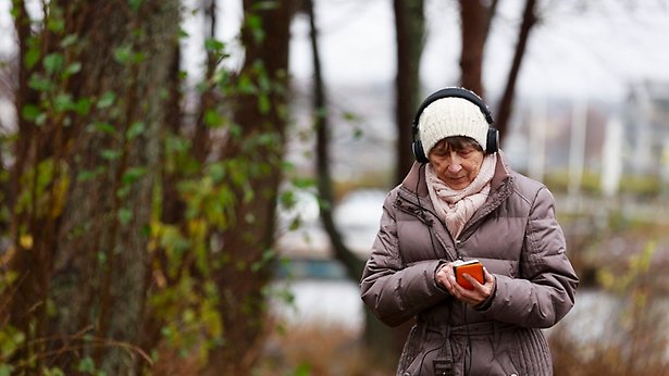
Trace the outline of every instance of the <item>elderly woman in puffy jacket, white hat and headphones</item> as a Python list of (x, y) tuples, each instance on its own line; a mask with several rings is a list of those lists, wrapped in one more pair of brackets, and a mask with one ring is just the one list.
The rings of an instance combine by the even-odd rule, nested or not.
[[(413, 122), (417, 163), (384, 204), (361, 280), (362, 300), (391, 326), (416, 318), (397, 375), (550, 375), (542, 328), (574, 304), (554, 199), (506, 165), (486, 105), (446, 88)], [(457, 283), (478, 259), (483, 278)]]

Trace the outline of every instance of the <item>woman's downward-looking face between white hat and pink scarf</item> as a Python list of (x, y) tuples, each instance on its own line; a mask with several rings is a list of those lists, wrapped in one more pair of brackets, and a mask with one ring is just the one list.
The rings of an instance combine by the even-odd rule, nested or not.
[(428, 155), (437, 177), (450, 189), (467, 188), (479, 175), (483, 150), (466, 137), (448, 137), (438, 141)]

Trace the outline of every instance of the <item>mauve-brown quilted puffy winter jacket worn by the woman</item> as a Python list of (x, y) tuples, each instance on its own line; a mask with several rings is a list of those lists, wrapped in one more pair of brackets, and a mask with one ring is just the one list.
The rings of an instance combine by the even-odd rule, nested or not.
[[(398, 375), (550, 375), (541, 328), (571, 310), (579, 281), (565, 251), (553, 196), (505, 166), (501, 153), (487, 201), (458, 239), (435, 215), (424, 165), (414, 164), (384, 202), (362, 300), (391, 326), (417, 319)], [(497, 279), (478, 308), (434, 280), (441, 264), (474, 258)]]

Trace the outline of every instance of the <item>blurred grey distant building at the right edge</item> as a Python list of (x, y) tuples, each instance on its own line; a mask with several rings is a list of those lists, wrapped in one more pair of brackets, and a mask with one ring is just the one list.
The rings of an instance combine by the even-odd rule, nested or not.
[(625, 173), (667, 176), (669, 168), (669, 83), (630, 86), (623, 111)]

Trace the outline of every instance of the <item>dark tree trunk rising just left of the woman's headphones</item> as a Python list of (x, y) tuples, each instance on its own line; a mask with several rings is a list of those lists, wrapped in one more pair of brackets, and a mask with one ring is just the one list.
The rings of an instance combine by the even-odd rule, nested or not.
[(397, 126), (397, 170), (395, 183), (400, 183), (411, 168), (411, 122), (420, 97), (420, 62), (423, 52), (423, 0), (394, 0), (397, 41), (397, 74), (395, 76), (395, 124)]

